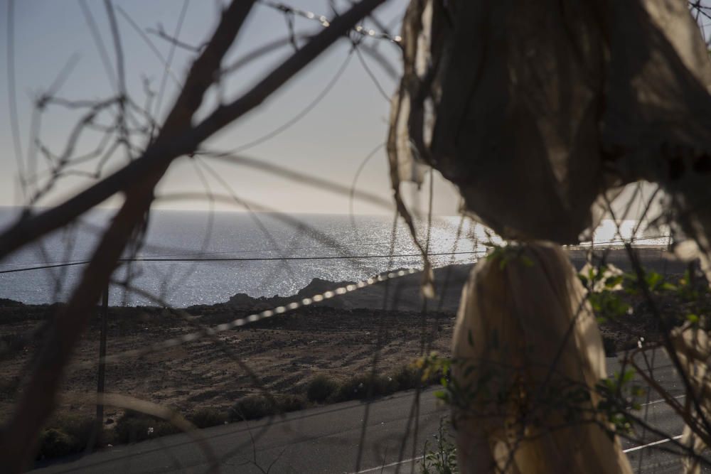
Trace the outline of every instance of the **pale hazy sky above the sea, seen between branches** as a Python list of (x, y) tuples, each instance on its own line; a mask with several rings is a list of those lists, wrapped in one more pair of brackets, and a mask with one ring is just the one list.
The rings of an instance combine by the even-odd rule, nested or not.
[[(2, 4), (0, 61), (3, 65), (1, 68), (3, 72), (0, 73), (0, 205), (13, 205), (21, 203), (22, 199), (18, 187), (18, 164), (14, 153), (9, 115), (9, 68), (6, 67), (9, 50), (7, 34), (9, 3), (8, 0), (1, 0), (0, 3)], [(333, 16), (327, 0), (293, 0), (285, 3), (316, 14)], [(156, 28), (161, 24), (164, 30), (170, 33), (175, 30), (183, 8), (181, 0), (122, 0), (115, 1), (114, 4), (123, 9), (143, 31)], [(217, 4), (216, 1), (208, 0), (192, 0), (188, 3), (179, 35), (181, 41), (199, 45), (208, 37), (217, 20)], [(393, 33), (398, 33), (399, 19), (406, 4), (405, 0), (391, 0), (376, 12), (376, 16), (385, 25), (392, 26)], [(337, 5), (341, 10), (345, 8), (344, 4)], [(112, 69), (115, 70), (114, 48), (103, 2), (88, 1), (87, 6), (95, 18), (102, 43), (108, 51)], [(127, 65), (127, 86), (136, 102), (142, 104), (146, 96), (141, 77), (147, 77), (151, 81), (151, 88), (154, 91), (159, 90), (164, 64), (120, 11), (117, 11), (117, 18)], [(319, 23), (304, 18), (295, 17), (294, 21), (297, 31), (314, 32), (321, 28)], [(250, 50), (275, 38), (287, 36), (288, 33), (287, 21), (283, 14), (257, 4), (225, 63), (230, 63), (235, 58), (240, 58)], [(149, 38), (164, 58), (169, 55), (171, 45), (168, 42), (151, 34)], [(395, 45), (375, 40), (368, 40), (368, 44), (377, 44), (378, 51), (397, 70), (400, 69), (400, 54)], [(365, 156), (385, 141), (389, 112), (387, 100), (369, 77), (358, 56), (355, 53), (348, 54), (350, 49), (350, 43), (341, 40), (262, 107), (228, 126), (208, 144), (214, 148), (233, 149), (278, 129), (304, 111), (333, 80), (339, 68), (348, 61), (336, 85), (303, 119), (263, 144), (243, 151), (242, 154), (268, 163), (294, 168), (311, 176), (350, 185)], [(226, 99), (237, 97), (241, 91), (253, 85), (264, 72), (273, 68), (292, 52), (291, 46), (284, 46), (276, 53), (264, 56), (261, 60), (250, 63), (247, 68), (237, 71), (225, 81), (224, 97)], [(82, 14), (78, 1), (15, 2), (14, 75), (23, 166), (27, 166), (26, 156), (31, 141), (33, 102), (36, 97), (48, 90), (73, 56), (78, 58), (78, 61), (63, 82), (57, 93), (58, 96), (67, 99), (102, 99), (115, 93), (112, 80), (109, 80), (109, 73), (102, 65), (99, 48), (92, 38), (87, 19)], [(184, 76), (192, 57), (193, 53), (181, 48), (176, 49), (172, 65), (175, 77), (180, 79)], [(387, 95), (391, 95), (395, 80), (368, 55), (363, 57)], [(159, 117), (164, 116), (176, 93), (176, 83), (171, 77), (166, 85), (166, 94)], [(217, 96), (211, 97), (210, 105), (214, 104), (215, 97)], [(201, 112), (204, 114), (206, 110), (203, 107)], [(77, 114), (66, 109), (48, 107), (41, 121), (43, 143), (58, 152), (65, 144), (70, 127), (77, 117)], [(99, 138), (99, 134), (88, 134), (81, 142), (80, 151), (89, 151)], [(114, 157), (112, 165), (119, 166), (122, 159), (122, 156)], [(211, 163), (211, 166), (230, 183), (240, 197), (269, 208), (287, 212), (348, 212), (346, 197), (285, 181), (283, 178), (269, 176), (241, 166), (216, 162)], [(225, 192), (213, 178), (208, 176), (208, 180), (213, 192)], [(60, 197), (69, 195), (90, 182), (90, 179), (82, 177), (65, 178), (41, 203), (57, 202)], [(364, 168), (358, 181), (358, 188), (389, 198), (387, 165), (382, 149)], [(164, 183), (161, 184), (160, 193), (204, 190), (193, 163), (183, 159), (170, 168)], [(422, 203), (427, 201), (424, 194), (419, 200)], [(169, 208), (206, 208), (205, 202), (181, 201), (159, 205)], [(220, 208), (229, 207), (220, 205)], [(390, 212), (358, 202), (355, 203), (354, 209), (355, 212), (363, 213)], [(456, 191), (441, 179), (438, 179), (435, 185), (434, 209), (435, 212), (445, 215), (456, 212)]]

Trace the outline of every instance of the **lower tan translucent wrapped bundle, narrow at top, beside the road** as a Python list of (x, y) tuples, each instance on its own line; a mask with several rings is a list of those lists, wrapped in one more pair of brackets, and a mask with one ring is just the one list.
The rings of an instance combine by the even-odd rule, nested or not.
[(606, 377), (592, 309), (555, 244), (476, 265), (454, 333), (452, 420), (462, 473), (631, 473), (596, 414)]

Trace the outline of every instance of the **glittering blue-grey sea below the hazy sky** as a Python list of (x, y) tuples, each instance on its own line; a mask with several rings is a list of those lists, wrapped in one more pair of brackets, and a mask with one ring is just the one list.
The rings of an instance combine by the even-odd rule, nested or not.
[[(66, 301), (113, 210), (93, 210), (0, 261), (0, 298), (43, 304)], [(0, 208), (0, 230), (16, 208)], [(434, 267), (476, 262), (502, 241), (483, 225), (459, 216), (416, 220), (418, 241)], [(616, 242), (604, 220), (593, 242)], [(668, 238), (621, 223), (622, 237), (665, 245)], [(228, 301), (235, 293), (289, 296), (314, 278), (359, 281), (393, 269), (421, 269), (422, 257), (403, 222), (385, 215), (278, 214), (154, 210), (138, 249), (114, 272), (112, 306), (176, 306)], [(39, 268), (47, 267), (50, 268)], [(18, 271), (21, 270), (21, 271)]]

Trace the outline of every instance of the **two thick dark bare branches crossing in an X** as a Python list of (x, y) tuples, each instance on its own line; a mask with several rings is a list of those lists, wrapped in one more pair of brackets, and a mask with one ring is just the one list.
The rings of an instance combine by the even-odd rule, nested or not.
[[(56, 314), (53, 330), (38, 352), (31, 378), (23, 389), (6, 430), (1, 434), (0, 465), (7, 472), (19, 473), (31, 462), (37, 433), (54, 409), (56, 393), (73, 349), (122, 252), (141, 228), (154, 198), (154, 188), (170, 163), (178, 156), (191, 153), (216, 131), (261, 104), (384, 1), (360, 2), (334, 19), (329, 28), (275, 68), (252, 90), (234, 102), (218, 107), (203, 122), (192, 126), (193, 115), (203, 103), (205, 92), (215, 82), (220, 63), (254, 4), (254, 1), (233, 1), (223, 12), (207, 47), (188, 72), (183, 89), (159, 136), (143, 156), (57, 207), (36, 216), (24, 216), (0, 235), (1, 258), (47, 232), (67, 225), (115, 193), (124, 193), (122, 208), (100, 239), (80, 283), (66, 306)], [(107, 8), (110, 8), (108, 2)], [(118, 41), (115, 43), (119, 44)]]

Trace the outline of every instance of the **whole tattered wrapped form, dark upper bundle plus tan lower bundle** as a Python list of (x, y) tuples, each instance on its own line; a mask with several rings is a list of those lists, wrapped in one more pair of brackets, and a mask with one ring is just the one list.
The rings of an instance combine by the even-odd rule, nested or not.
[[(677, 254), (700, 258), (711, 281), (711, 62), (688, 1), (411, 0), (402, 38), (387, 147), (396, 199), (426, 163), (498, 235), (566, 244), (589, 237), (619, 186), (658, 183), (685, 241)], [(460, 368), (462, 383), (493, 386), (460, 400), (460, 418), (478, 415), (460, 424), (464, 470), (629, 472), (601, 427), (553, 430), (560, 410), (535, 416), (553, 381), (592, 387), (604, 370), (560, 249), (523, 254), (533, 269), (486, 262), (464, 292), (455, 350), (498, 364)], [(552, 361), (561, 377), (541, 372)]]

